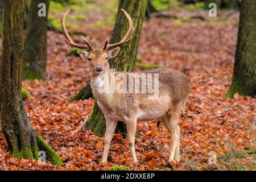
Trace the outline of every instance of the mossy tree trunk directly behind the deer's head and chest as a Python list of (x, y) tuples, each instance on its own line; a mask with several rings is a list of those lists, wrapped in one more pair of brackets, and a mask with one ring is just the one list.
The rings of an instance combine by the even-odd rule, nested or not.
[[(124, 9), (130, 14), (134, 21), (134, 36), (129, 43), (123, 44), (120, 47), (120, 51), (113, 60), (110, 60), (110, 68), (114, 68), (115, 71), (131, 72), (135, 65), (135, 58), (137, 55), (139, 37), (141, 36), (142, 23), (145, 16), (147, 6), (147, 0), (141, 1), (119, 1), (117, 19), (115, 20), (115, 26), (113, 30), (110, 43), (119, 42), (129, 27), (127, 18), (123, 15), (120, 9)], [(105, 117), (97, 104), (93, 107), (92, 115), (89, 121), (86, 123), (86, 127), (90, 128), (94, 134), (102, 137), (105, 133)], [(123, 122), (118, 122), (118, 133), (126, 133), (126, 127)]]

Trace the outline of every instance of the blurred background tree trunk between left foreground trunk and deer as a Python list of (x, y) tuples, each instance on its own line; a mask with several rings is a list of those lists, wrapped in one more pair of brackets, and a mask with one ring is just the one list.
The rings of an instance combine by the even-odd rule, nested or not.
[[(46, 16), (38, 15), (39, 3), (45, 3)], [(34, 0), (30, 3), (24, 45), (23, 78), (46, 78), (48, 9), (49, 0)]]

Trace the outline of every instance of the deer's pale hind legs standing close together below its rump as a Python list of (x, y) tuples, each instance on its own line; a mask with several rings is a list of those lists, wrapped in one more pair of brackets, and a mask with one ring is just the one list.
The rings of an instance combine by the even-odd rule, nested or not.
[(169, 111), (164, 117), (161, 119), (163, 122), (164, 126), (167, 127), (167, 129), (171, 133), (171, 151), (170, 151), (170, 156), (169, 156), (169, 161), (171, 162), (172, 160), (176, 160), (179, 162), (180, 160), (180, 128), (178, 126), (179, 122), (179, 112), (174, 112), (174, 111)]

